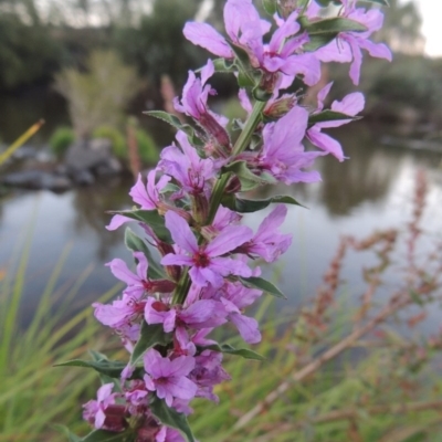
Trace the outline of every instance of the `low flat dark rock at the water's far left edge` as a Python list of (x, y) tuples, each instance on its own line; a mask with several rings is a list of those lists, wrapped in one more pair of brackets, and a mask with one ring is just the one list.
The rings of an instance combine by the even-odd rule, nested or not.
[(56, 176), (42, 170), (24, 170), (4, 176), (1, 182), (8, 187), (22, 189), (48, 189), (62, 192), (72, 187), (67, 177)]

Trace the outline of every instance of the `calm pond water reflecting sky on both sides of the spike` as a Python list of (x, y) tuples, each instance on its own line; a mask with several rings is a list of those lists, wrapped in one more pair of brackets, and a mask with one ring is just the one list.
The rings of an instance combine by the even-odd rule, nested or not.
[[(322, 182), (264, 189), (252, 196), (290, 193), (308, 208), (288, 209), (282, 230), (294, 234), (292, 246), (276, 267), (263, 269), (266, 276), (277, 275), (278, 285), (288, 297), (277, 301), (278, 308), (296, 307), (315, 293), (340, 235), (364, 238), (377, 229), (404, 225), (411, 213), (419, 168), (427, 171), (430, 183), (425, 229), (442, 231), (442, 154), (382, 146), (382, 134), (383, 129), (360, 123), (354, 124), (351, 130), (336, 130), (333, 135), (340, 139), (350, 159), (343, 164), (332, 157), (319, 159)], [(73, 309), (92, 303), (115, 285), (116, 280), (104, 264), (113, 257), (129, 263), (130, 254), (123, 244), (123, 230), (106, 231), (110, 218), (106, 211), (131, 206), (127, 197), (131, 185), (128, 180), (113, 179), (62, 194), (13, 191), (0, 200), (0, 270), (11, 265), (14, 256), (17, 262), (23, 243), (30, 245), (23, 325), (32, 317), (49, 276), (63, 253), (67, 253), (66, 248), (70, 250), (56, 287), (73, 285), (88, 272), (72, 301)], [(256, 229), (270, 210), (248, 214), (244, 222)], [(361, 295), (361, 269), (369, 260), (364, 253), (347, 260), (343, 276), (351, 296)], [(385, 290), (397, 283), (392, 276)], [(433, 315), (434, 322), (440, 320), (436, 313)]]

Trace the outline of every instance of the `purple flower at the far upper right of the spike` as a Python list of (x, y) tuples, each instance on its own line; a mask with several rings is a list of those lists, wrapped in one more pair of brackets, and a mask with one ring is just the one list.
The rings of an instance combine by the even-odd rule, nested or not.
[(334, 41), (318, 49), (315, 56), (323, 62), (351, 62), (350, 78), (355, 85), (358, 85), (362, 64), (361, 50), (365, 49), (371, 56), (388, 61), (391, 61), (391, 51), (383, 43), (373, 43), (369, 40), (371, 34), (382, 27), (382, 12), (378, 9), (367, 11), (362, 8), (356, 8), (354, 0), (343, 0), (343, 17), (364, 24), (367, 31), (340, 32)]

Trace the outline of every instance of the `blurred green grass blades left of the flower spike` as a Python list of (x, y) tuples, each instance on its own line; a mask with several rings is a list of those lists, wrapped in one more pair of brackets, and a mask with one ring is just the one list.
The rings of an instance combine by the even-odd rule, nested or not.
[[(27, 283), (27, 264), (32, 230), (20, 251), (17, 271), (14, 259), (3, 269), (0, 299), (0, 441), (60, 441), (51, 425), (63, 422), (78, 431), (87, 431), (81, 422), (81, 403), (95, 394), (97, 379), (93, 372), (54, 368), (63, 360), (85, 354), (87, 348), (105, 347), (102, 327), (92, 317), (91, 308), (69, 318), (66, 312), (91, 273), (86, 269), (75, 281), (55, 291), (60, 272), (70, 248), (66, 246), (54, 267), (33, 319), (21, 329), (20, 305)], [(15, 251), (17, 256), (17, 251)], [(115, 296), (117, 288), (101, 301)], [(38, 295), (38, 294), (35, 294)], [(60, 307), (54, 312), (52, 304)], [(66, 319), (67, 318), (67, 319)]]

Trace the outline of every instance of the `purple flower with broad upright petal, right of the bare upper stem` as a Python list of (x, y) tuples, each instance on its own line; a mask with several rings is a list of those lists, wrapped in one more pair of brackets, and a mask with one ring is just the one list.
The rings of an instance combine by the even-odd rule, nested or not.
[[(317, 171), (304, 171), (317, 157), (325, 155), (317, 151), (304, 151), (302, 140), (308, 123), (308, 113), (295, 106), (276, 123), (265, 125), (264, 146), (252, 168), (271, 173), (286, 185), (293, 182), (315, 182), (320, 180)], [(253, 160), (252, 160), (253, 161)]]

